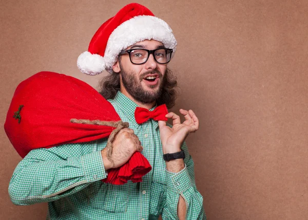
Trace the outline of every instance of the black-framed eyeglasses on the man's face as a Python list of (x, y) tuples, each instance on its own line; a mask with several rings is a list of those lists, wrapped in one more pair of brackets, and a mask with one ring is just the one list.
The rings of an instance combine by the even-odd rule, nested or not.
[(172, 52), (173, 50), (168, 48), (161, 48), (155, 50), (129, 49), (129, 50), (122, 50), (119, 55), (128, 53), (130, 62), (139, 65), (146, 63), (146, 61), (150, 57), (150, 54), (153, 54), (154, 60), (157, 63), (166, 64), (170, 62)]

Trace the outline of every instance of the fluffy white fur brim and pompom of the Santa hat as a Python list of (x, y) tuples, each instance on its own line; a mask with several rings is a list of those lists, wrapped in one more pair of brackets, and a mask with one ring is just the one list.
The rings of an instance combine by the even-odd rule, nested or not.
[(78, 68), (87, 75), (100, 74), (105, 69), (111, 73), (121, 50), (144, 40), (162, 42), (166, 48), (176, 51), (177, 41), (169, 25), (155, 16), (139, 15), (123, 22), (110, 34), (104, 57), (83, 52), (77, 61)]

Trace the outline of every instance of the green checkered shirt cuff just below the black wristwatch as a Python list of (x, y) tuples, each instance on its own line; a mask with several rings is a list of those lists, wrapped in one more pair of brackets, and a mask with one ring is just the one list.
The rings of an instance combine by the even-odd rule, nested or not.
[(168, 189), (178, 192), (179, 194), (184, 193), (190, 187), (192, 187), (186, 164), (184, 169), (178, 173), (172, 173), (166, 169), (166, 177)]

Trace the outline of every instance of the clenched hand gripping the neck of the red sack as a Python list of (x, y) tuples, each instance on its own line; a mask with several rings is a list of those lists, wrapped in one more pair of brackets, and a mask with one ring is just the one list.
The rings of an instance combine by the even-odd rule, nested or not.
[(112, 141), (112, 148), (101, 151), (105, 170), (121, 167), (134, 152), (142, 150), (141, 142), (132, 129), (120, 130)]

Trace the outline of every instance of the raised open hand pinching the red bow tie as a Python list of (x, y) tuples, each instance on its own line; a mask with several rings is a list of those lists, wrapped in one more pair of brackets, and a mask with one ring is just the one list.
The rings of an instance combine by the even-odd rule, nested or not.
[(160, 137), (163, 144), (163, 154), (176, 153), (181, 151), (181, 145), (187, 135), (199, 129), (199, 120), (192, 110), (180, 109), (185, 121), (181, 124), (180, 116), (173, 112), (166, 115), (166, 118), (173, 119), (173, 127), (166, 125), (165, 121), (158, 121)]

